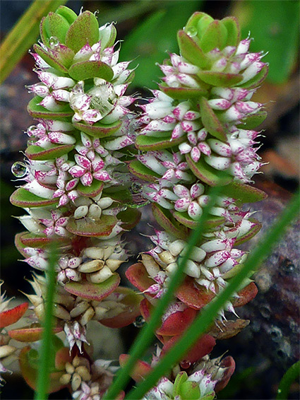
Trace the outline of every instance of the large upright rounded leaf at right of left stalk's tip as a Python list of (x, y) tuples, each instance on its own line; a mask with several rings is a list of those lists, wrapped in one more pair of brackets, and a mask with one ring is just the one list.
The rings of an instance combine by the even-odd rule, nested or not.
[(84, 11), (72, 23), (66, 33), (66, 45), (78, 52), (87, 43), (92, 46), (99, 40), (97, 18), (90, 11)]

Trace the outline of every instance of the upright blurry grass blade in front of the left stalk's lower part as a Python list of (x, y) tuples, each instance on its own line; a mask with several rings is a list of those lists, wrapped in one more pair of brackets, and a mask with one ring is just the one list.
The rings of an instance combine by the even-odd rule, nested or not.
[(56, 289), (55, 265), (57, 262), (57, 249), (52, 245), (47, 271), (47, 300), (45, 304), (44, 329), (42, 335), (42, 345), (40, 348), (40, 368), (37, 377), (37, 391), (35, 400), (47, 399), (49, 387), (49, 366), (53, 363), (54, 353), (52, 351), (53, 336), (53, 302)]

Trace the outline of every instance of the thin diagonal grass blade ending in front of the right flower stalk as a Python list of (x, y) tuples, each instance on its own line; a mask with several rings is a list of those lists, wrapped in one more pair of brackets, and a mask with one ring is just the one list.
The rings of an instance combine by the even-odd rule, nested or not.
[[(131, 370), (133, 370), (136, 361), (143, 355), (145, 350), (152, 342), (154, 331), (161, 323), (162, 314), (164, 313), (164, 310), (166, 309), (169, 302), (172, 300), (172, 298), (174, 298), (174, 291), (179, 286), (182, 278), (184, 277), (184, 266), (186, 265), (186, 261), (188, 260), (188, 254), (191, 253), (191, 250), (197, 244), (199, 238), (202, 235), (205, 221), (208, 219), (210, 208), (212, 208), (212, 206), (215, 204), (215, 197), (220, 192), (220, 189), (220, 187), (214, 187), (213, 189), (211, 189), (209, 193), (210, 202), (208, 206), (203, 208), (203, 214), (199, 219), (197, 228), (193, 230), (193, 233), (191, 234), (190, 240), (188, 241), (187, 250), (184, 254), (184, 257), (182, 257), (181, 261), (179, 261), (178, 269), (176, 270), (169, 282), (169, 288), (167, 292), (164, 293), (164, 296), (157, 304), (157, 307), (155, 307), (155, 311), (152, 314), (150, 322), (146, 324), (145, 327), (143, 327), (142, 331), (140, 331), (140, 334), (136, 338), (136, 341), (133, 343), (133, 346), (131, 348), (130, 358), (128, 362), (123, 368), (121, 368), (121, 370), (119, 370), (119, 374), (116, 376), (116, 380), (114, 381), (114, 384), (112, 384), (112, 387), (109, 388), (109, 391), (104, 396), (104, 400), (114, 399), (119, 394), (121, 388), (126, 387), (126, 384), (130, 380), (129, 374)], [(135, 399), (138, 399), (138, 397), (136, 397)]]

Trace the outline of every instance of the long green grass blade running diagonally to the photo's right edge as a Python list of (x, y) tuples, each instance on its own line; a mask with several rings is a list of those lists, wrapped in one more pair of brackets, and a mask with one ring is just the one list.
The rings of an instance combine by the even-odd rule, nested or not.
[(143, 382), (138, 384), (136, 389), (131, 390), (128, 396), (126, 396), (126, 399), (142, 399), (143, 395), (155, 386), (160, 377), (162, 377), (162, 375), (164, 375), (164, 373), (167, 372), (174, 363), (178, 362), (184, 356), (186, 351), (193, 346), (193, 343), (196, 342), (198, 337), (205, 333), (217, 316), (217, 312), (222, 309), (228, 300), (230, 300), (248, 274), (254, 269), (257, 269), (261, 261), (268, 256), (272, 246), (275, 245), (277, 240), (279, 240), (284, 233), (284, 228), (286, 228), (295, 216), (298, 215), (299, 207), (300, 197), (299, 194), (296, 194), (294, 199), (292, 199), (291, 204), (289, 204), (289, 207), (287, 207), (282, 213), (280, 220), (278, 220), (278, 222), (273, 225), (272, 229), (270, 229), (265, 235), (261, 244), (256, 247), (256, 249), (253, 249), (253, 252), (251, 252), (245, 262), (244, 267), (236, 274), (236, 276), (234, 276), (234, 278), (232, 278), (228, 286), (222, 290), (217, 298), (204, 308), (203, 312), (199, 314), (191, 327), (188, 328), (184, 337), (175, 344), (172, 350), (170, 350), (164, 358), (162, 358), (160, 363), (157, 364), (157, 367), (155, 367), (155, 370), (153, 370)]

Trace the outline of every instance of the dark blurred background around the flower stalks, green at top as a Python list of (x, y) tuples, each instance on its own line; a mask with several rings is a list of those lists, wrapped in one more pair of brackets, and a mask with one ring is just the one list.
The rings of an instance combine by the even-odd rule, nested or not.
[[(13, 27), (31, 1), (0, 1), (1, 39)], [(213, 18), (236, 16), (242, 37), (254, 37), (251, 51), (268, 53), (270, 73), (255, 99), (265, 105), (268, 118), (263, 129), (260, 155), (268, 163), (264, 175), (256, 175), (258, 186), (265, 189), (269, 199), (256, 205), (265, 228), (299, 186), (299, 1), (211, 1), (211, 0), (128, 0), (128, 1), (67, 1), (66, 6), (79, 13), (98, 11), (100, 25), (114, 21), (121, 41), (120, 61), (133, 60), (138, 66), (130, 93), (150, 97), (147, 88), (157, 88), (162, 73), (155, 64), (178, 52), (176, 32), (184, 27), (194, 11), (204, 11)], [(26, 111), (31, 95), (25, 85), (37, 81), (32, 72), (34, 62), (26, 54), (6, 81), (0, 86), (1, 95), (1, 278), (9, 296), (20, 296), (18, 290), (30, 292), (24, 278), (30, 278), (28, 264), (20, 258), (13, 237), (22, 230), (16, 218), (22, 209), (11, 206), (9, 196), (18, 186), (11, 175), (11, 165), (23, 160), (27, 135), (23, 131), (33, 121)], [(135, 233), (133, 252), (145, 242), (138, 231), (150, 233), (150, 211), (145, 208)], [(265, 229), (264, 229), (265, 230)], [(289, 229), (285, 240), (265, 261), (256, 281), (260, 293), (256, 300), (239, 315), (251, 319), (251, 325), (230, 339), (218, 343), (216, 355), (229, 350), (236, 360), (236, 373), (219, 399), (274, 399), (277, 384), (285, 370), (299, 358), (299, 221)], [(258, 235), (256, 241), (260, 239)], [(252, 245), (255, 245), (253, 241)], [(126, 328), (122, 337), (136, 334), (135, 327)], [(126, 339), (119, 346), (128, 347)], [(32, 392), (14, 374), (4, 387), (3, 399), (30, 399)], [(9, 390), (8, 390), (9, 387)], [(7, 389), (6, 389), (7, 388)], [(50, 398), (67, 399), (67, 392)], [(299, 384), (292, 386), (291, 399), (299, 399)]]

